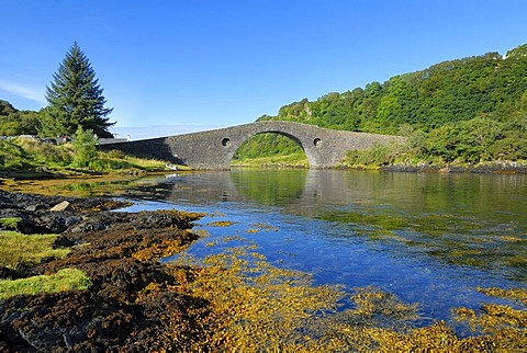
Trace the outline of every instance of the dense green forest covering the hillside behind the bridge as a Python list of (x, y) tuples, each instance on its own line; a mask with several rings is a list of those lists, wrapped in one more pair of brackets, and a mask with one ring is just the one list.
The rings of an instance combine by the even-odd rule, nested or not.
[[(332, 92), (314, 102), (304, 99), (280, 109), (279, 119), (321, 127), (408, 136), (396, 151), (406, 161), (476, 163), (527, 159), (527, 44), (506, 55), (487, 53), (444, 61), (427, 69), (371, 82), (344, 93)], [(236, 159), (292, 151), (287, 138), (266, 134), (247, 141)], [(388, 152), (388, 151), (384, 151)], [(371, 155), (371, 153), (370, 153)], [(350, 153), (351, 163), (390, 163)]]

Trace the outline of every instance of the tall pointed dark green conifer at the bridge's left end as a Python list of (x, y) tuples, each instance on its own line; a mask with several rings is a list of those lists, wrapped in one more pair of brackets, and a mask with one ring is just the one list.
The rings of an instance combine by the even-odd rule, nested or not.
[(115, 123), (106, 117), (113, 109), (104, 107), (106, 100), (96, 71), (77, 43), (66, 54), (53, 79), (51, 87), (46, 87), (48, 106), (41, 117), (41, 135), (71, 136), (81, 127), (99, 137), (113, 137), (108, 128)]

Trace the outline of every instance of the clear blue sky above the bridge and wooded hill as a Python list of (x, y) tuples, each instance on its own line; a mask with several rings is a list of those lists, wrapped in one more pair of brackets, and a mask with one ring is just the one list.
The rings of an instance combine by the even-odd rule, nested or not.
[(1, 8), (0, 99), (44, 107), (46, 86), (77, 42), (114, 107), (112, 130), (133, 139), (250, 123), (303, 98), (527, 43), (525, 0), (3, 0)]

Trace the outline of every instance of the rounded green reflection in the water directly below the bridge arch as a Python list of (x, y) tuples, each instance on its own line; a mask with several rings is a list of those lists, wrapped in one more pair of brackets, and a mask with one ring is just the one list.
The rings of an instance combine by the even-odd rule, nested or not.
[(244, 170), (232, 172), (238, 193), (264, 205), (285, 205), (298, 201), (305, 187), (307, 171)]

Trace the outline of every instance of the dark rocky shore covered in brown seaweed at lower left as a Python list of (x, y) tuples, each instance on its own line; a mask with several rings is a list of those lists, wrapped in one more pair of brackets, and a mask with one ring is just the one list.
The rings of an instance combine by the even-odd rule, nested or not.
[(0, 301), (0, 351), (177, 350), (170, 328), (191, 321), (188, 309), (204, 304), (175, 289), (189, 269), (158, 260), (198, 239), (191, 228), (202, 215), (114, 210), (125, 205), (108, 198), (0, 191), (0, 218), (22, 219), (16, 230), (35, 237), (59, 234), (54, 246), (71, 249), (61, 260), (23, 271), (0, 266), (0, 280), (76, 267), (92, 282), (89, 291), (19, 295)]

